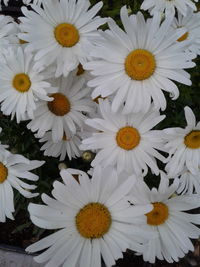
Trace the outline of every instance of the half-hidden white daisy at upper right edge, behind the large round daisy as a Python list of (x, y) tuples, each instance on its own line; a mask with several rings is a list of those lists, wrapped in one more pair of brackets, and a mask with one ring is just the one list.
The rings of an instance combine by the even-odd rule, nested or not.
[(186, 32), (177, 41), (189, 41), (187, 49), (200, 55), (200, 12), (194, 13), (189, 10), (186, 17), (178, 13), (178, 18), (174, 18), (172, 27), (184, 28)]

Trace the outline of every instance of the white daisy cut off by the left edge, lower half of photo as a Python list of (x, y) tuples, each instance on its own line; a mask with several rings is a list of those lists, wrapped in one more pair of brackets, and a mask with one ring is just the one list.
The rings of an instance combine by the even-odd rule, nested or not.
[(36, 188), (22, 179), (37, 181), (39, 177), (31, 172), (44, 164), (44, 161), (28, 160), (27, 158), (11, 154), (4, 150), (0, 153), (0, 222), (5, 222), (6, 217), (14, 220), (12, 213), (14, 209), (13, 188), (26, 198), (32, 198), (38, 193), (31, 193)]

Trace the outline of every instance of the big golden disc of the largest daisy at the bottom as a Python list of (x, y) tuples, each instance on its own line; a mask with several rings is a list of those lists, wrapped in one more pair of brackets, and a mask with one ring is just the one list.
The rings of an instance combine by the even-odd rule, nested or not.
[(110, 229), (109, 210), (100, 203), (89, 203), (76, 215), (76, 227), (85, 238), (100, 238)]

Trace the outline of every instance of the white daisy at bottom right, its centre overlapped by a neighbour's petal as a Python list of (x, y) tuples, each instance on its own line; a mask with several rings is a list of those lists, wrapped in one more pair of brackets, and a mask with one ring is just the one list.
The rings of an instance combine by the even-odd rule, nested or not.
[[(190, 240), (199, 238), (199, 214), (190, 214), (188, 211), (199, 208), (200, 197), (174, 196), (178, 187), (178, 180), (169, 186), (169, 180), (161, 173), (159, 188), (150, 190), (148, 186), (138, 181), (133, 190), (132, 202), (137, 205), (153, 204), (154, 208), (146, 214), (146, 225), (141, 228), (154, 231), (158, 236), (144, 244), (143, 259), (155, 263), (156, 258), (169, 263), (179, 261), (189, 251), (194, 251)], [(137, 197), (135, 197), (137, 194)], [(173, 196), (172, 196), (173, 195)]]

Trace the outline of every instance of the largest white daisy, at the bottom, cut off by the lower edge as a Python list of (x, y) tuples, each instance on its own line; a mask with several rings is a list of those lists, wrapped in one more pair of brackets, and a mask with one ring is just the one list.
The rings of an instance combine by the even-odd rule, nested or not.
[[(71, 174), (70, 174), (71, 173)], [(77, 180), (72, 176), (76, 175)], [(152, 205), (130, 206), (127, 194), (135, 184), (134, 176), (118, 182), (112, 168), (94, 169), (92, 179), (81, 171), (62, 170), (64, 184), (54, 182), (52, 195), (42, 194), (45, 205), (30, 204), (30, 218), (45, 229), (61, 229), (29, 246), (26, 251), (47, 249), (34, 259), (44, 266), (107, 267), (123, 257), (130, 243), (140, 251), (146, 233), (133, 222), (142, 224)], [(131, 216), (130, 216), (131, 214)], [(148, 237), (147, 237), (148, 238)]]

